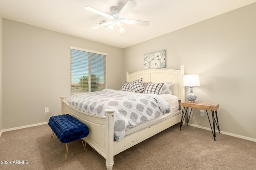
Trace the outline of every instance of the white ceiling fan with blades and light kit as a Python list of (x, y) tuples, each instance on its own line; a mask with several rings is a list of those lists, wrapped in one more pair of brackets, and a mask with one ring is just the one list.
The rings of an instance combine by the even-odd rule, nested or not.
[(121, 10), (115, 9), (110, 15), (104, 12), (101, 12), (99, 10), (96, 10), (95, 8), (92, 8), (90, 6), (86, 6), (85, 9), (91, 12), (94, 12), (96, 14), (99, 14), (101, 16), (104, 16), (111, 20), (111, 21), (106, 21), (102, 19), (97, 23), (98, 25), (92, 27), (92, 29), (98, 29), (100, 27), (108, 26), (113, 31), (114, 28), (117, 27), (120, 34), (122, 35), (122, 33), (124, 33), (123, 23), (132, 24), (132, 25), (141, 25), (141, 26), (149, 25), (148, 21), (129, 20), (124, 18), (124, 14), (127, 14), (128, 12), (130, 12), (136, 5), (137, 4), (134, 1), (128, 0), (128, 2), (126, 2), (126, 4)]

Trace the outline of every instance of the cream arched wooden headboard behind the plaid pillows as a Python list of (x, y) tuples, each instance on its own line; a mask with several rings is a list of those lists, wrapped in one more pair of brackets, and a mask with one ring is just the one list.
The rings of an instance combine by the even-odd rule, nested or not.
[(158, 68), (133, 72), (126, 72), (126, 81), (132, 82), (143, 78), (143, 82), (171, 82), (172, 94), (177, 96), (181, 102), (185, 101), (185, 88), (183, 86), (184, 67), (180, 66), (180, 70)]

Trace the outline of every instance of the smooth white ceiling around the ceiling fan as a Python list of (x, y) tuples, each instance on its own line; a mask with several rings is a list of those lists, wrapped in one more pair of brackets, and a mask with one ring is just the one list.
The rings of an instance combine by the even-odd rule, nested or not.
[[(194, 23), (246, 6), (256, 0), (134, 0), (126, 19), (149, 21), (147, 27), (124, 26), (126, 35), (107, 27), (91, 29), (103, 16), (85, 10), (91, 6), (106, 14), (122, 9), (128, 0), (0, 0), (7, 18), (83, 39), (126, 48)], [(104, 18), (107, 19), (107, 18)]]

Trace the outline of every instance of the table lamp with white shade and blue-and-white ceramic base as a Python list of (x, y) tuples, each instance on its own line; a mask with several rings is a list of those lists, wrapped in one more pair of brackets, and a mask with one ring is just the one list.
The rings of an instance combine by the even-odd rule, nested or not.
[(199, 74), (187, 74), (184, 75), (183, 86), (190, 86), (190, 94), (188, 94), (188, 102), (194, 103), (196, 95), (193, 94), (193, 86), (200, 86)]

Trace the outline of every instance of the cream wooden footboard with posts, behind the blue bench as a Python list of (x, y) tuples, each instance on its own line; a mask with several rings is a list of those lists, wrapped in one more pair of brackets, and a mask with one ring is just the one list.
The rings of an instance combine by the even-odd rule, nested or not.
[(88, 126), (86, 143), (106, 158), (107, 169), (111, 170), (114, 164), (114, 110), (106, 109), (106, 117), (96, 116), (79, 111), (65, 100), (66, 97), (61, 97), (61, 113), (70, 114)]

